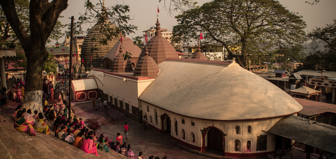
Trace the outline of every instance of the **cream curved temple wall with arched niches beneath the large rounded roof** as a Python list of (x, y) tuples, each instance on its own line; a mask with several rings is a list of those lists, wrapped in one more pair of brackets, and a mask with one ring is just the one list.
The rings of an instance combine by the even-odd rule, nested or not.
[[(262, 120), (246, 120), (246, 121), (208, 121), (200, 120), (190, 117), (185, 117), (181, 115), (174, 114), (172, 112), (166, 111), (164, 109), (158, 108), (154, 105), (146, 103), (139, 100), (139, 104), (143, 106), (143, 115), (146, 113), (148, 116), (148, 124), (155, 127), (157, 130), (162, 131), (161, 116), (167, 114), (171, 120), (171, 136), (180, 140), (181, 142), (196, 146), (202, 147), (202, 132), (201, 130), (214, 126), (219, 130), (223, 131), (225, 136), (225, 153), (265, 153), (275, 150), (275, 135), (267, 133), (267, 131), (278, 122), (281, 117), (278, 118), (269, 118)], [(149, 111), (146, 110), (148, 106)], [(155, 121), (155, 112), (157, 111), (158, 124)], [(152, 120), (150, 119), (152, 117)], [(182, 124), (184, 120), (184, 124)], [(175, 121), (177, 121), (178, 135), (175, 134)], [(192, 126), (191, 123), (195, 123), (195, 126)], [(237, 134), (236, 126), (239, 126), (239, 133)], [(249, 133), (248, 127), (251, 126), (251, 131)], [(182, 138), (182, 129), (185, 132), (185, 138)], [(166, 122), (164, 122), (164, 130), (166, 128)], [(191, 133), (195, 134), (195, 142), (193, 142)], [(267, 135), (267, 150), (256, 151), (257, 148), (257, 139), (260, 135)], [(204, 144), (205, 147), (208, 146), (208, 136), (205, 135)], [(240, 141), (239, 151), (236, 151), (235, 141)], [(247, 149), (247, 142), (251, 141), (250, 150)]]

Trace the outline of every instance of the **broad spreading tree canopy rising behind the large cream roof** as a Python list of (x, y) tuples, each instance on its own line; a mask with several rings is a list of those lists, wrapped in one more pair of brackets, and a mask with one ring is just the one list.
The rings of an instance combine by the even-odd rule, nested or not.
[(244, 68), (250, 56), (286, 46), (302, 47), (305, 41), (302, 16), (275, 0), (213, 0), (175, 18), (178, 25), (173, 27), (173, 36), (177, 38), (173, 39), (177, 42), (191, 43), (202, 32), (206, 41), (225, 47)]

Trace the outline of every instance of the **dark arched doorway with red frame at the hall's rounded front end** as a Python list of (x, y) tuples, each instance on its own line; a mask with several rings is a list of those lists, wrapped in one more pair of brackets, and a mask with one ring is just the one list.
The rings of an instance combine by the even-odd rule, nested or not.
[(223, 152), (223, 135), (215, 128), (208, 131), (208, 149)]

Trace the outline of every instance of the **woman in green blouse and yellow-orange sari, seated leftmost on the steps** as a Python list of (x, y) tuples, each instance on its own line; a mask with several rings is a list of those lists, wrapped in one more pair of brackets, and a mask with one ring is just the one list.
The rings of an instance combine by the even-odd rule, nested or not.
[(27, 123), (25, 118), (22, 116), (22, 110), (18, 110), (17, 115), (14, 118), (14, 129), (16, 129), (19, 133), (24, 132), (29, 136), (36, 136), (34, 127)]

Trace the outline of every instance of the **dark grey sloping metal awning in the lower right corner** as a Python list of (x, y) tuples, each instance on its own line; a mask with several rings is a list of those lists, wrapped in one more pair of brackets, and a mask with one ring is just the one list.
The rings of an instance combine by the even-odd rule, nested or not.
[(267, 132), (336, 153), (336, 127), (313, 122), (295, 115), (285, 116)]

